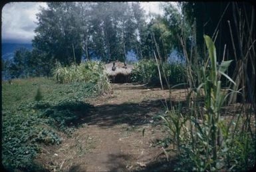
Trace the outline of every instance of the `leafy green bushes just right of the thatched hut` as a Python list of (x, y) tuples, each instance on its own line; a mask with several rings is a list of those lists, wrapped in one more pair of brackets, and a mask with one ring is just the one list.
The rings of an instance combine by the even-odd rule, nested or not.
[[(160, 63), (162, 81), (166, 84), (179, 84), (185, 82), (186, 68), (183, 64)], [(165, 78), (166, 77), (166, 78)], [(131, 79), (133, 82), (160, 84), (156, 60), (140, 60), (134, 65)]]

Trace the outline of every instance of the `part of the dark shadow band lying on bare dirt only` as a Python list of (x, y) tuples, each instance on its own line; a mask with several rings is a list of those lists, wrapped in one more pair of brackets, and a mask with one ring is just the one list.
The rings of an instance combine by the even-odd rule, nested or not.
[[(172, 104), (177, 104), (177, 102), (172, 102)], [(163, 114), (164, 112), (164, 100), (162, 99), (140, 103), (104, 104), (96, 106), (90, 114), (87, 114), (84, 122), (88, 125), (98, 125), (100, 127), (117, 124), (140, 126), (150, 123), (150, 120), (156, 117), (157, 114)]]

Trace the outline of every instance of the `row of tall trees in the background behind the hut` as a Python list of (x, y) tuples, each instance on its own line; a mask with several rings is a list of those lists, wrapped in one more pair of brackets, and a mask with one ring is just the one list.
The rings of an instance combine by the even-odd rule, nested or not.
[(148, 24), (135, 2), (49, 2), (47, 6), (37, 13), (33, 50), (23, 53), (9, 70), (13, 78), (51, 76), (56, 61), (64, 66), (80, 64), (83, 58), (125, 61), (130, 51), (138, 59), (154, 58), (159, 52), (158, 58), (167, 60), (172, 48), (180, 50), (182, 15), (168, 3), (164, 17), (153, 16)]

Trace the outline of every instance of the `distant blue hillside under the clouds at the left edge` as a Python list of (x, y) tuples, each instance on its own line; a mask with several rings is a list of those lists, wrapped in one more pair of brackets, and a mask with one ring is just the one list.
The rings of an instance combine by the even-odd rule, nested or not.
[(13, 58), (15, 50), (21, 47), (25, 47), (31, 50), (32, 44), (2, 43), (2, 59), (7, 60)]

